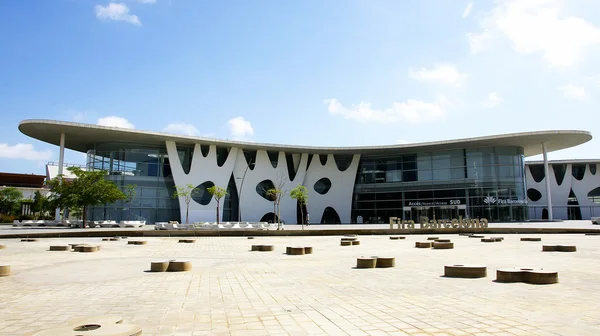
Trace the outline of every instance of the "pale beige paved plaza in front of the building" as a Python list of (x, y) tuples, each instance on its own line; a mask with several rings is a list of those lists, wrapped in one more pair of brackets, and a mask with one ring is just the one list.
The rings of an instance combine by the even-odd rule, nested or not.
[[(459, 235), (452, 250), (360, 236), (0, 239), (0, 335), (24, 335), (75, 317), (119, 314), (144, 335), (599, 335), (600, 236), (504, 235), (483, 243)], [(521, 242), (521, 237), (542, 242)], [(133, 238), (130, 238), (133, 239)], [(50, 245), (101, 245), (95, 253), (50, 252)], [(272, 244), (274, 252), (250, 252)], [(541, 252), (542, 244), (577, 252)], [(286, 246), (312, 246), (289, 256)], [(359, 256), (393, 256), (396, 267), (355, 269)], [(150, 273), (150, 262), (187, 259), (190, 272)], [(483, 264), (487, 278), (442, 277), (447, 264)], [(496, 269), (542, 267), (553, 285), (496, 283)]]

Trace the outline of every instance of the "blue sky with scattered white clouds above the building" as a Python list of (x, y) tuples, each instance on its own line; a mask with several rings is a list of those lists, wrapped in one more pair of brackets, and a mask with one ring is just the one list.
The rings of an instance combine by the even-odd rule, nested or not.
[[(600, 137), (593, 0), (0, 1), (0, 171), (44, 174), (44, 118), (374, 145)], [(550, 154), (600, 158), (600, 140)], [(532, 158), (536, 159), (536, 158)], [(66, 161), (84, 163), (80, 153)]]

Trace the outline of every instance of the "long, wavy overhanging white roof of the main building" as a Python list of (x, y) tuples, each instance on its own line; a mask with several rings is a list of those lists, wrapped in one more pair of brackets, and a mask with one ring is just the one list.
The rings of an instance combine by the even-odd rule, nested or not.
[(79, 152), (86, 152), (88, 149), (93, 148), (93, 145), (98, 142), (122, 142), (148, 146), (164, 146), (165, 141), (175, 141), (180, 145), (200, 143), (224, 147), (238, 147), (249, 150), (264, 149), (285, 151), (289, 153), (315, 154), (402, 154), (418, 151), (438, 151), (469, 147), (518, 146), (523, 147), (525, 156), (533, 156), (542, 153), (541, 144), (544, 142), (550, 152), (574, 147), (592, 139), (591, 133), (587, 131), (550, 130), (402, 145), (325, 147), (221, 140), (45, 119), (23, 120), (19, 123), (19, 130), (23, 134), (34, 139), (57, 146), (60, 144), (61, 133), (65, 133), (65, 147)]

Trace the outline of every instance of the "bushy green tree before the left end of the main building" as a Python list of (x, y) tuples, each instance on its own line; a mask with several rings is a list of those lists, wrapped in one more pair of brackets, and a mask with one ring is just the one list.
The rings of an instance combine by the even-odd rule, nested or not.
[(79, 167), (67, 168), (75, 178), (71, 181), (57, 176), (48, 182), (52, 188), (50, 200), (63, 209), (81, 209), (83, 227), (89, 206), (114, 203), (126, 196), (114, 182), (105, 178), (106, 171), (85, 171)]

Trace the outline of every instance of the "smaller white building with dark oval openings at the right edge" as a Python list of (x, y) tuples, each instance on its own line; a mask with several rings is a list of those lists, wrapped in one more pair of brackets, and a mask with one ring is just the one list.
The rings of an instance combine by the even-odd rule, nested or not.
[(526, 162), (529, 219), (548, 219), (548, 193), (554, 219), (590, 219), (600, 216), (600, 160)]

